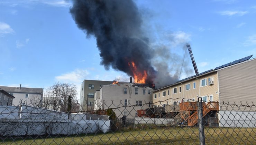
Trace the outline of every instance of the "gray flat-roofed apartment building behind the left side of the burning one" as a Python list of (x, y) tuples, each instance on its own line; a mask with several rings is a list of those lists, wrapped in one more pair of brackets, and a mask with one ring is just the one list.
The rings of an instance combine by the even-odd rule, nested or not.
[(99, 90), (103, 85), (112, 83), (112, 81), (83, 80), (80, 88), (80, 111), (93, 110), (94, 91)]

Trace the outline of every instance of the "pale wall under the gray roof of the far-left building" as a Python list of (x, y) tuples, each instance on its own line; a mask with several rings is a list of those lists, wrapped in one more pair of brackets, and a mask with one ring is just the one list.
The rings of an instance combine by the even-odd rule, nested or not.
[[(12, 93), (15, 98), (12, 100), (12, 104), (14, 106), (18, 106), (20, 104), (20, 100), (22, 99), (22, 103), (25, 101), (25, 105), (33, 106), (30, 103), (30, 99), (41, 98), (41, 94), (38, 93), (17, 93), (17, 92), (8, 92)], [(26, 98), (26, 94), (28, 94), (28, 98)]]

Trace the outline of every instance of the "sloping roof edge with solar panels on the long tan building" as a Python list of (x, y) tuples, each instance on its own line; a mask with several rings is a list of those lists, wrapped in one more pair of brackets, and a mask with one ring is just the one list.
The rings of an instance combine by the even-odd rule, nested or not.
[(183, 81), (190, 80), (190, 79), (195, 78), (195, 77), (199, 77), (199, 76), (203, 76), (203, 75), (209, 74), (209, 73), (211, 73), (211, 72), (217, 71), (217, 70), (222, 69), (222, 68), (225, 68), (225, 67), (229, 67), (229, 66), (232, 66), (232, 65), (235, 65), (235, 64), (239, 64), (239, 63), (241, 63), (241, 62), (244, 62), (244, 61), (249, 60), (252, 56), (253, 56), (253, 55), (250, 55), (250, 56), (247, 56), (247, 57), (244, 57), (244, 58), (235, 60), (235, 61), (233, 61), (233, 62), (229, 62), (229, 63), (227, 63), (227, 64), (221, 65), (221, 66), (216, 67), (216, 68), (214, 68), (214, 69), (210, 69), (210, 70), (201, 72), (201, 73), (198, 74), (198, 75), (193, 75), (193, 76), (184, 78), (184, 79), (182, 79), (182, 80), (178, 80), (177, 82), (175, 82), (175, 83), (173, 83), (173, 84), (171, 84), (171, 85), (167, 85), (167, 86), (158, 88), (158, 89), (156, 89), (155, 91), (160, 90), (160, 89), (167, 88), (167, 87), (169, 87), (169, 86), (176, 85), (177, 83), (181, 83), (181, 82), (183, 82)]

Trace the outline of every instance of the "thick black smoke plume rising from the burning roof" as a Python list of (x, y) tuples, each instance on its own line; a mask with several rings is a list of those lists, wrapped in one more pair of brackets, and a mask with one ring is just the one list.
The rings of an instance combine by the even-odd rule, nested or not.
[(147, 71), (146, 83), (154, 83), (156, 70), (150, 59), (154, 50), (141, 30), (142, 19), (132, 0), (73, 0), (70, 9), (77, 26), (94, 36), (105, 69), (133, 73), (128, 62), (134, 61), (138, 71)]

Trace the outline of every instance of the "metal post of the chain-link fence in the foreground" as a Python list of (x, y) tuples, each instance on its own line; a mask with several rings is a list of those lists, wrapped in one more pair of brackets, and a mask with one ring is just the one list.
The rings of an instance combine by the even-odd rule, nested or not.
[[(200, 98), (200, 100), (199, 100), (199, 98)], [(200, 140), (200, 145), (205, 145), (202, 97), (199, 97), (199, 98), (198, 98), (197, 105), (196, 105), (198, 108), (199, 140)]]

